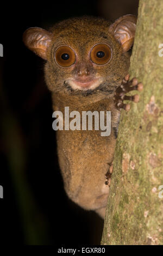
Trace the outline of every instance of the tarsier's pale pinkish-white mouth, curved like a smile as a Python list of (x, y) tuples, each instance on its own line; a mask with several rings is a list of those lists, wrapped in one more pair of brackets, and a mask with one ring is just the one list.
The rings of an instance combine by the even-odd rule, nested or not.
[(103, 78), (86, 78), (86, 79), (75, 79), (68, 78), (65, 83), (71, 86), (72, 89), (76, 90), (93, 90), (97, 88), (103, 82)]

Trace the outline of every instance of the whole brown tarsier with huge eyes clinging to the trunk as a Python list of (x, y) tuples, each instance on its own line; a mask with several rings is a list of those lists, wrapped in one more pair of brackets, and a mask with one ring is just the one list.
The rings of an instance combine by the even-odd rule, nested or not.
[(142, 90), (136, 78), (129, 81), (129, 49), (136, 29), (134, 15), (113, 24), (96, 17), (78, 17), (55, 24), (49, 31), (29, 28), (24, 44), (45, 59), (45, 79), (52, 92), (54, 111), (111, 111), (111, 134), (100, 130), (58, 130), (58, 159), (65, 191), (86, 210), (105, 215), (112, 173), (112, 161), (123, 100)]

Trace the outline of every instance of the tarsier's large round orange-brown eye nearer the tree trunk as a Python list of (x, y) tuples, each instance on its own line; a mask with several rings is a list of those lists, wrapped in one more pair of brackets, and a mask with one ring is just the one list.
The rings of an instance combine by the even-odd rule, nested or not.
[(104, 65), (109, 62), (111, 58), (111, 49), (109, 45), (98, 44), (92, 48), (91, 60), (97, 65)]

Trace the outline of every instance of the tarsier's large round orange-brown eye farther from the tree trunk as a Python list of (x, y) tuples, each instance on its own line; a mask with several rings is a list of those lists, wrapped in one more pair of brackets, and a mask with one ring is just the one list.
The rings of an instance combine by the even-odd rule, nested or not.
[(55, 52), (55, 60), (60, 66), (71, 66), (76, 60), (73, 50), (68, 46), (60, 46)]

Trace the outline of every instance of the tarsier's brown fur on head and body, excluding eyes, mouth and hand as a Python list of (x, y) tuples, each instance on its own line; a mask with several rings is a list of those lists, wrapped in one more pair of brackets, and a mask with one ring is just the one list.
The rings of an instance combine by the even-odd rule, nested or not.
[[(65, 106), (70, 107), (70, 112), (111, 111), (111, 135), (108, 137), (102, 137), (101, 131), (95, 130), (57, 131), (59, 164), (68, 197), (86, 210), (95, 210), (102, 217), (109, 193), (109, 186), (105, 185), (105, 174), (114, 158), (115, 133), (120, 118), (113, 96), (123, 77), (128, 74), (130, 63), (129, 54), (124, 52), (114, 32), (111, 29), (109, 31), (109, 26), (109, 21), (102, 18), (84, 16), (68, 19), (49, 29), (48, 38), (51, 34), (51, 41), (44, 41), (41, 45), (43, 56), (46, 51), (45, 79), (52, 92), (54, 111), (64, 113)], [(27, 37), (25, 34), (24, 42), (29, 47)], [(98, 43), (111, 47), (112, 57), (106, 65), (90, 62), (90, 49)], [(38, 43), (37, 39), (37, 45), (32, 47), (36, 48), (38, 44), (40, 41)], [(55, 62), (55, 50), (61, 45), (70, 46), (77, 52), (78, 62), (75, 65), (63, 68)], [(76, 77), (81, 69), (89, 70), (92, 76), (101, 77), (102, 83), (95, 89), (73, 89), (66, 80)]]

